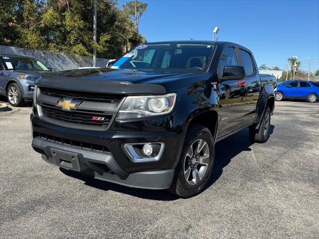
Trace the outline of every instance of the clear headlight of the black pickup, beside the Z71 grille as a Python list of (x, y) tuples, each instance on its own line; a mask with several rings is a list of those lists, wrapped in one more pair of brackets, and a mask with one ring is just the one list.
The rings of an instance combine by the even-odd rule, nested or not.
[(171, 112), (176, 93), (162, 96), (129, 96), (125, 99), (117, 119), (132, 119), (159, 116)]

